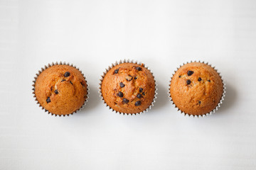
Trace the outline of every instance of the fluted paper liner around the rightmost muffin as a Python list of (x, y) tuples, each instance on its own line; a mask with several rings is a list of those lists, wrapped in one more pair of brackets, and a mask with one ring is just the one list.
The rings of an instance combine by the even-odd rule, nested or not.
[[(191, 61), (191, 62), (193, 62), (193, 61)], [(180, 69), (183, 65), (188, 64), (188, 63), (191, 63), (191, 62), (183, 63), (182, 65), (180, 65), (180, 67), (177, 67), (177, 69), (174, 71), (174, 74), (175, 74), (175, 73), (178, 71), (178, 69)], [(199, 61), (194, 61), (194, 62), (201, 62), (201, 61), (199, 60)], [(212, 67), (212, 65), (211, 65), (211, 64), (208, 64), (208, 62), (201, 62), (201, 63), (207, 64), (208, 66)], [(215, 69), (215, 67), (212, 67), (212, 68)], [(175, 108), (178, 109), (177, 111), (180, 111), (181, 114), (183, 114), (184, 116), (187, 116), (187, 117), (193, 116), (193, 118), (195, 118), (195, 117), (198, 117), (198, 118), (199, 118), (199, 117), (206, 117), (206, 116), (208, 116), (208, 115), (211, 115), (211, 114), (215, 113), (215, 111), (218, 111), (218, 108), (220, 108), (220, 104), (222, 104), (223, 101), (224, 101), (224, 97), (225, 97), (225, 93), (226, 93), (226, 91), (225, 91), (226, 86), (225, 86), (225, 83), (224, 83), (224, 81), (223, 81), (222, 76), (220, 75), (220, 72), (218, 72), (217, 69), (215, 69), (215, 71), (219, 74), (220, 79), (221, 79), (221, 81), (222, 81), (222, 83), (223, 83), (223, 94), (222, 94), (222, 96), (221, 96), (221, 98), (220, 98), (220, 101), (219, 101), (218, 105), (213, 109), (213, 111), (210, 111), (209, 113), (206, 113), (206, 114), (203, 114), (203, 115), (190, 115), (190, 114), (188, 114), (188, 113), (185, 113), (185, 112), (181, 111), (181, 110), (176, 106), (176, 104), (174, 103), (174, 101), (173, 101), (172, 98), (171, 98), (171, 92), (170, 92), (170, 89), (171, 89), (171, 81), (170, 81), (168, 94), (169, 94), (169, 97), (171, 98), (171, 103), (175, 106)], [(174, 77), (174, 74), (172, 74), (171, 79)]]

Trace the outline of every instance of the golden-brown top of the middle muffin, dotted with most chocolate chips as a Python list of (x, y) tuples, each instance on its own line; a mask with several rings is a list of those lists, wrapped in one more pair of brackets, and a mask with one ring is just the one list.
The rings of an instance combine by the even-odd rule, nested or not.
[(154, 101), (154, 77), (144, 64), (122, 63), (105, 74), (102, 97), (119, 113), (140, 113)]

